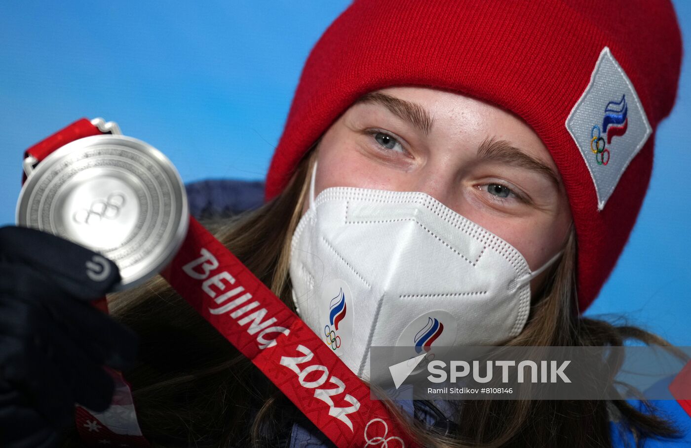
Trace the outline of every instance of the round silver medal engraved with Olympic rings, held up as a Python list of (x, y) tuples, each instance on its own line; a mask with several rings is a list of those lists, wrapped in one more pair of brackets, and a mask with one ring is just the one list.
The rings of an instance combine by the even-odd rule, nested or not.
[[(117, 129), (117, 127), (115, 127)], [(80, 138), (30, 172), (17, 201), (17, 225), (100, 252), (120, 268), (115, 290), (157, 274), (189, 227), (184, 184), (171, 161), (136, 138)]]

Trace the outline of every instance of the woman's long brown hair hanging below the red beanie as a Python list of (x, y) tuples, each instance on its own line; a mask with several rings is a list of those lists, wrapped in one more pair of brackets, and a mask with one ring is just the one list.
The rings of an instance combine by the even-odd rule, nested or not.
[[(290, 239), (301, 216), (315, 152), (309, 151), (284, 191), (262, 207), (202, 222), (290, 308)], [(575, 272), (576, 239), (571, 232), (560, 263), (534, 299), (527, 325), (508, 345), (620, 346), (630, 338), (669, 345), (632, 326), (578, 315)], [(108, 301), (113, 317), (140, 335), (138, 365), (125, 377), (133, 386), (142, 432), (154, 446), (287, 445), (292, 422), (316, 432), (162, 277)], [(607, 447), (612, 446), (612, 419), (621, 420), (636, 440), (676, 436), (670, 423), (623, 400), (460, 402), (445, 431), (413, 421), (395, 403), (387, 405), (425, 447)], [(64, 446), (79, 446), (75, 431), (66, 436)]]

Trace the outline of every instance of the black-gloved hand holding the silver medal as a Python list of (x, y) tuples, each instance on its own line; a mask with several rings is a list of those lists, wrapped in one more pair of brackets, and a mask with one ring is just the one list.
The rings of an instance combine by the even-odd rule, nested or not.
[(0, 447), (56, 447), (75, 402), (111, 404), (138, 337), (89, 302), (120, 281), (117, 265), (66, 239), (0, 227)]

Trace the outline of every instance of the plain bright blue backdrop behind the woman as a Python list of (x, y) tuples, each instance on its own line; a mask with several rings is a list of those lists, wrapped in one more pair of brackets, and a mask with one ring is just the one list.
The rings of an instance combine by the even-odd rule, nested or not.
[[(81, 117), (162, 149), (185, 183), (263, 179), (303, 62), (349, 1), (155, 3), (0, 3), (0, 225), (14, 223), (23, 150)], [(674, 3), (691, 48), (691, 1)], [(587, 312), (687, 346), (690, 62), (641, 216)]]

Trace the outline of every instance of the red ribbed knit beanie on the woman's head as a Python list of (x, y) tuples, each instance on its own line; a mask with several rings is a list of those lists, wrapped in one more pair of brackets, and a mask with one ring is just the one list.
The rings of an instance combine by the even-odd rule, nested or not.
[(307, 59), (265, 198), (365, 93), (427, 86), (486, 100), (522, 117), (556, 162), (576, 227), (583, 312), (641, 208), (680, 65), (666, 0), (355, 0)]

